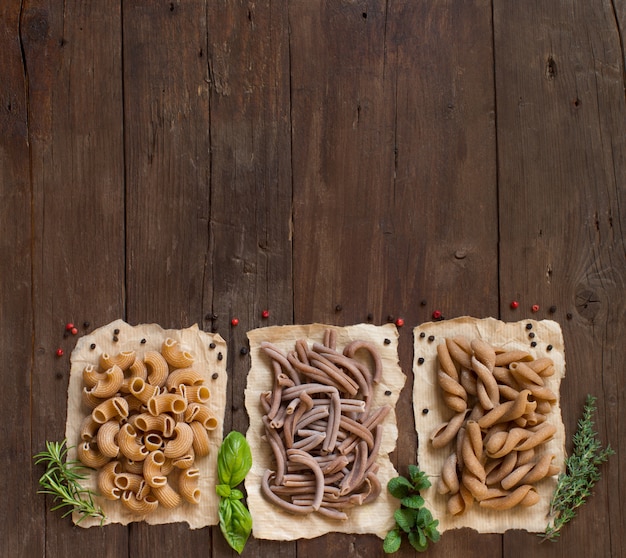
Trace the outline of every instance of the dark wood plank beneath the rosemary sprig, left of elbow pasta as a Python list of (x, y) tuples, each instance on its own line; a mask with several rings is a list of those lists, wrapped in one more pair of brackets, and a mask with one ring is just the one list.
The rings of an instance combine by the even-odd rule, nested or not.
[[(65, 432), (74, 346), (65, 323), (82, 333), (83, 322), (92, 327), (123, 310), (120, 13), (112, 2), (63, 8), (26, 2), (21, 18), (32, 176), (33, 452)], [(87, 555), (93, 545), (108, 556), (126, 553), (122, 527), (87, 535), (58, 512), (39, 522), (49, 555)]]

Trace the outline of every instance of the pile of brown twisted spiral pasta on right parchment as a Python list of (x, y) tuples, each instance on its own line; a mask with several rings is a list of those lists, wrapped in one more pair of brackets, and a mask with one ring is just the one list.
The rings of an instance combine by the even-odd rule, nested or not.
[(431, 434), (434, 448), (452, 445), (438, 484), (457, 515), (474, 502), (507, 510), (539, 501), (535, 484), (558, 473), (542, 453), (556, 432), (547, 421), (556, 395), (544, 385), (550, 358), (494, 349), (481, 339), (447, 338), (437, 346), (438, 382), (454, 416)]

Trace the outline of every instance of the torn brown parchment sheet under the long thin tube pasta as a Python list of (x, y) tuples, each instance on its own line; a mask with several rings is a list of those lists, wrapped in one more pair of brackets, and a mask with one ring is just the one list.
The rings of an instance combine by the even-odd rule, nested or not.
[[(322, 343), (326, 329), (336, 331), (337, 350), (343, 349), (346, 344), (356, 339), (370, 341), (380, 349), (384, 373), (382, 381), (375, 388), (372, 409), (382, 405), (392, 406), (392, 411), (383, 422), (385, 431), (377, 460), (380, 465), (378, 478), (383, 490), (375, 502), (348, 510), (349, 519), (346, 521), (333, 521), (315, 513), (308, 516), (291, 515), (268, 503), (260, 490), (263, 473), (266, 469), (274, 467), (274, 464), (269, 445), (261, 439), (263, 412), (259, 403), (261, 393), (272, 389), (273, 373), (270, 361), (262, 354), (259, 345), (262, 341), (269, 341), (284, 352), (288, 352), (294, 349), (298, 339), (307, 339), (310, 345), (313, 342)], [(393, 513), (398, 507), (398, 501), (389, 495), (386, 486), (389, 479), (398, 474), (389, 460), (389, 453), (395, 448), (398, 437), (395, 405), (406, 381), (406, 376), (398, 364), (398, 331), (395, 325), (277, 326), (250, 331), (248, 339), (252, 365), (245, 391), (246, 409), (250, 416), (250, 428), (246, 438), (252, 449), (252, 469), (246, 477), (245, 486), (248, 493), (248, 507), (253, 517), (253, 535), (259, 539), (281, 541), (309, 539), (330, 532), (374, 533), (384, 538), (394, 526)], [(385, 345), (385, 339), (389, 339), (391, 343)], [(355, 358), (362, 356), (357, 352)], [(385, 395), (386, 391), (390, 391), (391, 395)]]

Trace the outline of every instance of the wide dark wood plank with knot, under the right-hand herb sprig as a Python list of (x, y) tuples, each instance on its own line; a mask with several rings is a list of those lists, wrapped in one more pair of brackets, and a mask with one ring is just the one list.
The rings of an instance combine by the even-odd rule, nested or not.
[[(611, 2), (552, 2), (494, 10), (498, 91), (502, 307), (561, 323), (567, 376), (561, 407), (568, 441), (585, 395), (598, 397), (602, 440), (624, 443), (623, 51)], [(550, 313), (554, 305), (556, 310)], [(511, 311), (506, 311), (512, 317)], [(568, 443), (568, 449), (571, 445)], [(558, 545), (523, 532), (510, 556), (621, 556), (616, 456)], [(623, 483), (622, 483), (623, 484)]]

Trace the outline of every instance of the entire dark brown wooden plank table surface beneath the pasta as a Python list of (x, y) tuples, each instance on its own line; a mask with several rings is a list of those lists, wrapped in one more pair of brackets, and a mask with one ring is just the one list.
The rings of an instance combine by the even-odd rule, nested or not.
[[(66, 322), (219, 332), (225, 429), (245, 431), (247, 330), (402, 317), (406, 471), (412, 328), (434, 310), (558, 321), (568, 438), (592, 393), (618, 454), (558, 543), (461, 530), (430, 555), (626, 554), (623, 2), (6, 0), (0, 13), (2, 556), (234, 554), (218, 528), (85, 531), (47, 511), (31, 456), (64, 433)], [(382, 556), (382, 541), (244, 552), (336, 553)]]

